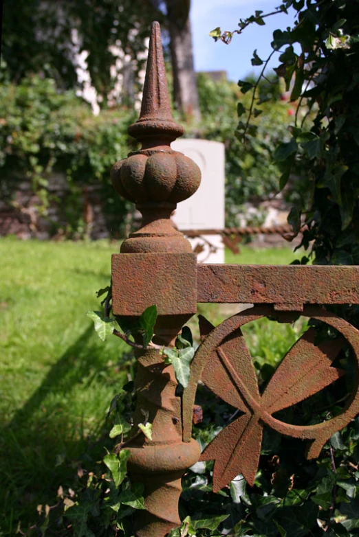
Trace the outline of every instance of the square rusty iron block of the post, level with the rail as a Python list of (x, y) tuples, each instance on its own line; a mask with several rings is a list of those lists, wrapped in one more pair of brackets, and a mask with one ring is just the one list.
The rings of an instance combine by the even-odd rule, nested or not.
[(197, 267), (194, 253), (112, 255), (115, 315), (141, 315), (157, 305), (158, 315), (194, 315)]

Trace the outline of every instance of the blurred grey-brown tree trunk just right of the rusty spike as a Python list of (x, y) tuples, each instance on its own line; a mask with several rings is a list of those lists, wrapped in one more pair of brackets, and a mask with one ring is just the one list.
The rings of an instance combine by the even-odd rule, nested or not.
[[(177, 109), (199, 120), (201, 112), (199, 110), (196, 73), (193, 65), (191, 21), (189, 19), (189, 9), (183, 16), (183, 3), (186, 2), (183, 2), (183, 0), (166, 1), (168, 30), (171, 38), (173, 94)], [(181, 8), (182, 12), (180, 12)]]

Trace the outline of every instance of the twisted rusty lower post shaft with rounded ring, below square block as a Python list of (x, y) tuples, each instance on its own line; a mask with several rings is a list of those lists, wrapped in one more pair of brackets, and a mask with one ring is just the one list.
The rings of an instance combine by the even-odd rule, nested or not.
[[(164, 365), (157, 350), (138, 354), (135, 380), (138, 397), (135, 424), (149, 412), (152, 440), (137, 437), (131, 446), (128, 468), (133, 481), (145, 485), (146, 512), (139, 513), (136, 535), (165, 536), (180, 525), (178, 515), (181, 477), (199, 459), (199, 444), (182, 442), (181, 400), (175, 395), (177, 381), (171, 365)], [(149, 389), (149, 386), (151, 387)]]

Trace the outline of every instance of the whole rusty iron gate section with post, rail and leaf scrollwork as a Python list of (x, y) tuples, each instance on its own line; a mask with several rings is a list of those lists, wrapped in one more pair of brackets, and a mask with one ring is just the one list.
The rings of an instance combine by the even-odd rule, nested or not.
[[(239, 472), (252, 484), (257, 471), (263, 425), (279, 433), (307, 440), (307, 457), (318, 457), (334, 432), (359, 412), (356, 389), (340, 415), (313, 426), (294, 426), (273, 417), (276, 411), (329, 385), (342, 372), (331, 366), (333, 349), (314, 345), (308, 330), (288, 352), (260, 395), (252, 359), (241, 326), (273, 315), (289, 322), (302, 313), (336, 328), (359, 361), (359, 332), (347, 321), (319, 307), (321, 304), (358, 304), (359, 268), (353, 266), (197, 265), (182, 233), (171, 223), (171, 212), (199, 186), (197, 165), (170, 144), (183, 134), (175, 123), (168, 88), (160, 26), (153, 23), (142, 109), (129, 133), (142, 148), (113, 168), (117, 192), (136, 204), (142, 227), (113, 255), (113, 312), (136, 317), (157, 305), (156, 342), (173, 345), (182, 325), (197, 311), (197, 302), (250, 303), (254, 307), (230, 317), (217, 328), (206, 324), (206, 337), (191, 365), (191, 378), (182, 397), (176, 396), (171, 365), (157, 350), (137, 352), (138, 415), (149, 412), (153, 439), (137, 436), (129, 445), (129, 472), (145, 485), (146, 511), (138, 514), (135, 534), (165, 536), (180, 524), (177, 503), (181, 477), (199, 458), (215, 459), (213, 489), (223, 488)], [(358, 364), (357, 364), (358, 365)], [(309, 374), (305, 382), (298, 372)], [(193, 403), (202, 379), (217, 396), (241, 411), (200, 455), (191, 439)], [(296, 390), (289, 388), (296, 385)]]

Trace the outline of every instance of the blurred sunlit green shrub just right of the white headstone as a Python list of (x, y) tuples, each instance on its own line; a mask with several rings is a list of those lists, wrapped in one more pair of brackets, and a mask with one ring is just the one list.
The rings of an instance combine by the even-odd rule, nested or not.
[[(261, 84), (263, 113), (254, 119), (252, 126), (257, 136), (251, 137), (243, 148), (236, 130), (237, 111), (240, 107), (249, 106), (250, 96), (242, 95), (234, 82), (215, 82), (205, 73), (200, 73), (197, 81), (202, 112), (197, 135), (225, 145), (226, 225), (237, 226), (240, 225), (239, 213), (244, 203), (258, 205), (279, 192), (281, 172), (273, 161), (273, 155), (279, 141), (290, 137), (288, 126), (292, 106), (281, 100), (282, 88), (277, 78)], [(187, 129), (186, 135), (191, 134), (191, 128)]]

